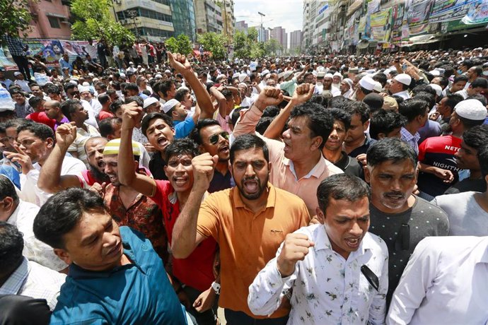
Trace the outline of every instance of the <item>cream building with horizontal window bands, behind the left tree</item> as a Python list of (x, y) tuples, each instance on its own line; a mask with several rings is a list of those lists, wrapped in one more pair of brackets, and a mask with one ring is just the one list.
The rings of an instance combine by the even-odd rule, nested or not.
[(162, 42), (175, 35), (170, 0), (113, 0), (113, 4), (117, 20), (136, 36)]

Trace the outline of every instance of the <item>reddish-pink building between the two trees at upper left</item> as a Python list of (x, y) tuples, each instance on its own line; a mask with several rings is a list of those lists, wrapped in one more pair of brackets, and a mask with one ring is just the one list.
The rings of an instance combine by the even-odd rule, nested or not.
[(54, 38), (69, 40), (69, 3), (62, 0), (30, 1), (32, 29), (27, 38)]

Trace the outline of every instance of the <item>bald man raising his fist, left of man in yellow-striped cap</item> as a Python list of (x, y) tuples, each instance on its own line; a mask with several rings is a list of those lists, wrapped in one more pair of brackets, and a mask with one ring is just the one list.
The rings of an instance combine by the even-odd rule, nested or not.
[(89, 138), (85, 143), (88, 170), (81, 172), (79, 175), (61, 176), (63, 160), (74, 138), (76, 138), (76, 126), (74, 124), (66, 123), (57, 128), (56, 144), (47, 158), (45, 167), (42, 168), (37, 182), (37, 186), (42, 191), (57, 193), (69, 187), (88, 189), (93, 187), (95, 183), (94, 189), (101, 189), (102, 184), (108, 182), (109, 179), (105, 175), (103, 164), (103, 148), (105, 148), (108, 140), (101, 136)]

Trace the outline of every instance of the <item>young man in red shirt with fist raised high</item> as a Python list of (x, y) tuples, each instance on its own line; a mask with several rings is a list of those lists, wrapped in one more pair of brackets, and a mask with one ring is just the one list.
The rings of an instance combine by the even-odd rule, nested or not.
[[(197, 144), (190, 139), (177, 139), (165, 146), (164, 160), (168, 165), (164, 166), (164, 172), (168, 180), (155, 180), (151, 177), (136, 172), (133, 167), (134, 145), (130, 145), (132, 129), (136, 125), (140, 107), (135, 105), (124, 107), (122, 115), (122, 132), (120, 138), (120, 151), (117, 158), (110, 158), (110, 163), (115, 160), (119, 168), (120, 189), (130, 189), (141, 196), (148, 197), (163, 211), (163, 223), (168, 240), (171, 242), (173, 227), (178, 220), (180, 209), (189, 203), (190, 191), (194, 185), (192, 159), (198, 155)], [(109, 162), (105, 159), (104, 161)], [(110, 175), (110, 170), (105, 170)], [(110, 179), (112, 182), (112, 178)], [(113, 183), (112, 183), (113, 184)], [(105, 196), (106, 197), (106, 196)], [(197, 300), (204, 295), (211, 300), (207, 308), (211, 307), (215, 300), (216, 292), (211, 288), (215, 280), (213, 262), (216, 254), (216, 242), (212, 238), (204, 240), (195, 249), (195, 252), (185, 258), (173, 255), (173, 287), (180, 294), (180, 299), (185, 300), (184, 291), (191, 305), (187, 306), (190, 312), (199, 321), (198, 324), (215, 324), (216, 306), (213, 309), (202, 310), (199, 314), (195, 307), (200, 307)], [(180, 283), (184, 284), (180, 285)], [(207, 300), (204, 299), (204, 300)], [(203, 298), (202, 298), (203, 300)]]

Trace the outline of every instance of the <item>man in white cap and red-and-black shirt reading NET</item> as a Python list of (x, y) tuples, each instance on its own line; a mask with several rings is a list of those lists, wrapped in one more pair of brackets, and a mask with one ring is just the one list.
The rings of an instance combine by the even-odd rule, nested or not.
[(483, 124), (486, 117), (487, 109), (479, 100), (463, 100), (455, 105), (449, 120), (452, 134), (426, 138), (420, 144), (417, 185), (422, 191), (421, 196), (433, 199), (458, 181), (459, 168), (455, 162), (455, 153), (461, 150), (463, 132)]

